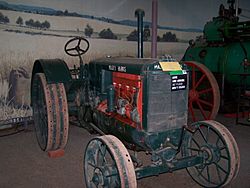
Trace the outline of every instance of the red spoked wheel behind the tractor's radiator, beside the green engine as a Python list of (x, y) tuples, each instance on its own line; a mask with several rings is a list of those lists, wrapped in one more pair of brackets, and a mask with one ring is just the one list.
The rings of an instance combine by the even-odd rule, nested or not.
[(203, 64), (192, 61), (183, 63), (188, 66), (191, 74), (189, 117), (193, 122), (214, 119), (220, 107), (220, 90), (214, 75)]

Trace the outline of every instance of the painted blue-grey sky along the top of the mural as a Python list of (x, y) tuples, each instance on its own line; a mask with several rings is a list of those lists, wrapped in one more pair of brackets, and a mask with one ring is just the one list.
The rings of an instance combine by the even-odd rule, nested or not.
[[(151, 20), (151, 0), (8, 0), (9, 3), (50, 7), (81, 14), (104, 16), (116, 20), (135, 19), (137, 8), (145, 10)], [(158, 21), (163, 26), (203, 28), (206, 21), (218, 15), (220, 4), (227, 0), (158, 0)], [(250, 0), (239, 0), (240, 7), (250, 9)], [(244, 12), (250, 17), (250, 12)]]

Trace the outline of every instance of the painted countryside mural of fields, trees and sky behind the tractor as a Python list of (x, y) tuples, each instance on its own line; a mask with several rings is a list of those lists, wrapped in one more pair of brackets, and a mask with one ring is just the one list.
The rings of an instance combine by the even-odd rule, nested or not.
[[(13, 99), (8, 96), (13, 90), (8, 83), (10, 71), (21, 67), (24, 80), (19, 89), (26, 91), (29, 83), (25, 79), (35, 59), (62, 58), (69, 66), (78, 64), (78, 58), (64, 52), (64, 44), (71, 37), (88, 38), (86, 62), (107, 55), (136, 56), (137, 8), (145, 10), (144, 56), (150, 57), (151, 3), (151, 0), (0, 1), (0, 119), (29, 113), (13, 112)], [(170, 54), (180, 60), (188, 41), (202, 35), (203, 25), (218, 15), (222, 3), (226, 5), (227, 1), (158, 0), (158, 56)], [(240, 7), (249, 13), (250, 2), (242, 0)], [(249, 18), (243, 15), (241, 19)], [(21, 99), (24, 106), (29, 103), (29, 97), (25, 97)]]

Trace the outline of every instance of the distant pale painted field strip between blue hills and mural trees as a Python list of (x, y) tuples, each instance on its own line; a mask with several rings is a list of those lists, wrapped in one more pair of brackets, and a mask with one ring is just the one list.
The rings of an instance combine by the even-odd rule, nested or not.
[[(82, 33), (87, 24), (89, 24), (94, 29), (94, 32), (100, 32), (103, 29), (111, 28), (111, 30), (115, 34), (122, 34), (122, 35), (128, 35), (131, 31), (136, 29), (135, 27), (111, 24), (98, 20), (85, 19), (79, 17), (47, 16), (47, 15), (31, 14), (24, 12), (9, 11), (9, 10), (0, 10), (0, 12), (9, 17), (10, 24), (12, 25), (16, 25), (16, 20), (19, 16), (23, 18), (24, 22), (29, 19), (33, 19), (34, 21), (38, 20), (40, 22), (44, 22), (45, 20), (47, 20), (51, 24), (50, 29), (55, 30), (57, 32), (71, 31), (74, 33), (75, 32)], [(190, 40), (194, 39), (198, 35), (201, 35), (201, 33), (196, 33), (196, 32), (183, 32), (183, 31), (158, 29), (159, 36), (162, 36), (163, 33), (166, 32), (175, 33), (177, 38), (181, 40)]]

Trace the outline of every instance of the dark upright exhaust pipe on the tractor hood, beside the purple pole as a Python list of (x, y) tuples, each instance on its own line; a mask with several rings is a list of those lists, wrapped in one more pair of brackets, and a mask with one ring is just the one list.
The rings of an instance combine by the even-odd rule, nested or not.
[(135, 16), (137, 17), (137, 32), (138, 32), (138, 58), (143, 58), (143, 17), (145, 12), (142, 9), (136, 9)]

